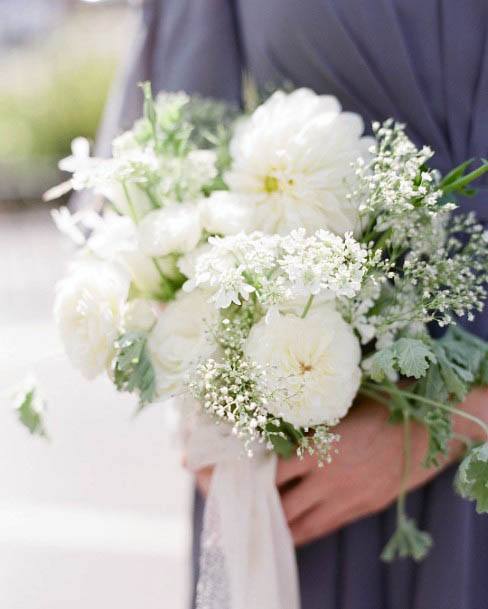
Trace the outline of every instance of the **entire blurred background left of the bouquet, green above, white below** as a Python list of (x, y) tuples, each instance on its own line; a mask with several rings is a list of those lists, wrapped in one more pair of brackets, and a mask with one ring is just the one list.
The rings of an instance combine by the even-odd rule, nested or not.
[[(134, 33), (120, 1), (0, 0), (0, 607), (183, 609), (190, 483), (161, 408), (61, 355), (54, 283), (72, 254), (42, 193), (77, 135), (94, 139)], [(33, 373), (49, 440), (8, 389)]]

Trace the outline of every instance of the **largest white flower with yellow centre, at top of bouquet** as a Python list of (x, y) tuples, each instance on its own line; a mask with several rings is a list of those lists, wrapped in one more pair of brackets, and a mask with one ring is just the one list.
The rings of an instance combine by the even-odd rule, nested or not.
[(344, 234), (358, 228), (357, 205), (346, 197), (351, 167), (368, 158), (359, 115), (341, 112), (335, 97), (310, 89), (277, 92), (241, 121), (230, 144), (230, 191), (255, 206), (253, 229), (287, 234), (304, 227)]

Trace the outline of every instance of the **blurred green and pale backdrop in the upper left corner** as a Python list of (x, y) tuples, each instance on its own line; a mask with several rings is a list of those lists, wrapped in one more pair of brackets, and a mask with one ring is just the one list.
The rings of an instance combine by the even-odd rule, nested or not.
[[(71, 140), (94, 139), (134, 15), (125, 2), (0, 0), (0, 207), (62, 179)], [(29, 6), (27, 6), (29, 5)]]

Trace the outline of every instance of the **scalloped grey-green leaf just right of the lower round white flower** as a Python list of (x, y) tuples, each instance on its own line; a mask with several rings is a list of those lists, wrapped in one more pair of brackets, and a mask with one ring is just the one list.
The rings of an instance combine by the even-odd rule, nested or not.
[(394, 379), (396, 372), (419, 379), (425, 376), (434, 361), (434, 353), (423, 340), (400, 338), (372, 356), (369, 373), (377, 382), (385, 378)]

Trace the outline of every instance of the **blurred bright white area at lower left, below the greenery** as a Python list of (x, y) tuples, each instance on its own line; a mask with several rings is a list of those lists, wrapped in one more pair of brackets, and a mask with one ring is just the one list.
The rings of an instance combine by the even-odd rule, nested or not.
[(183, 609), (190, 481), (162, 408), (88, 383), (50, 319), (71, 253), (47, 211), (0, 213), (0, 394), (33, 372), (49, 442), (0, 398), (0, 607)]

